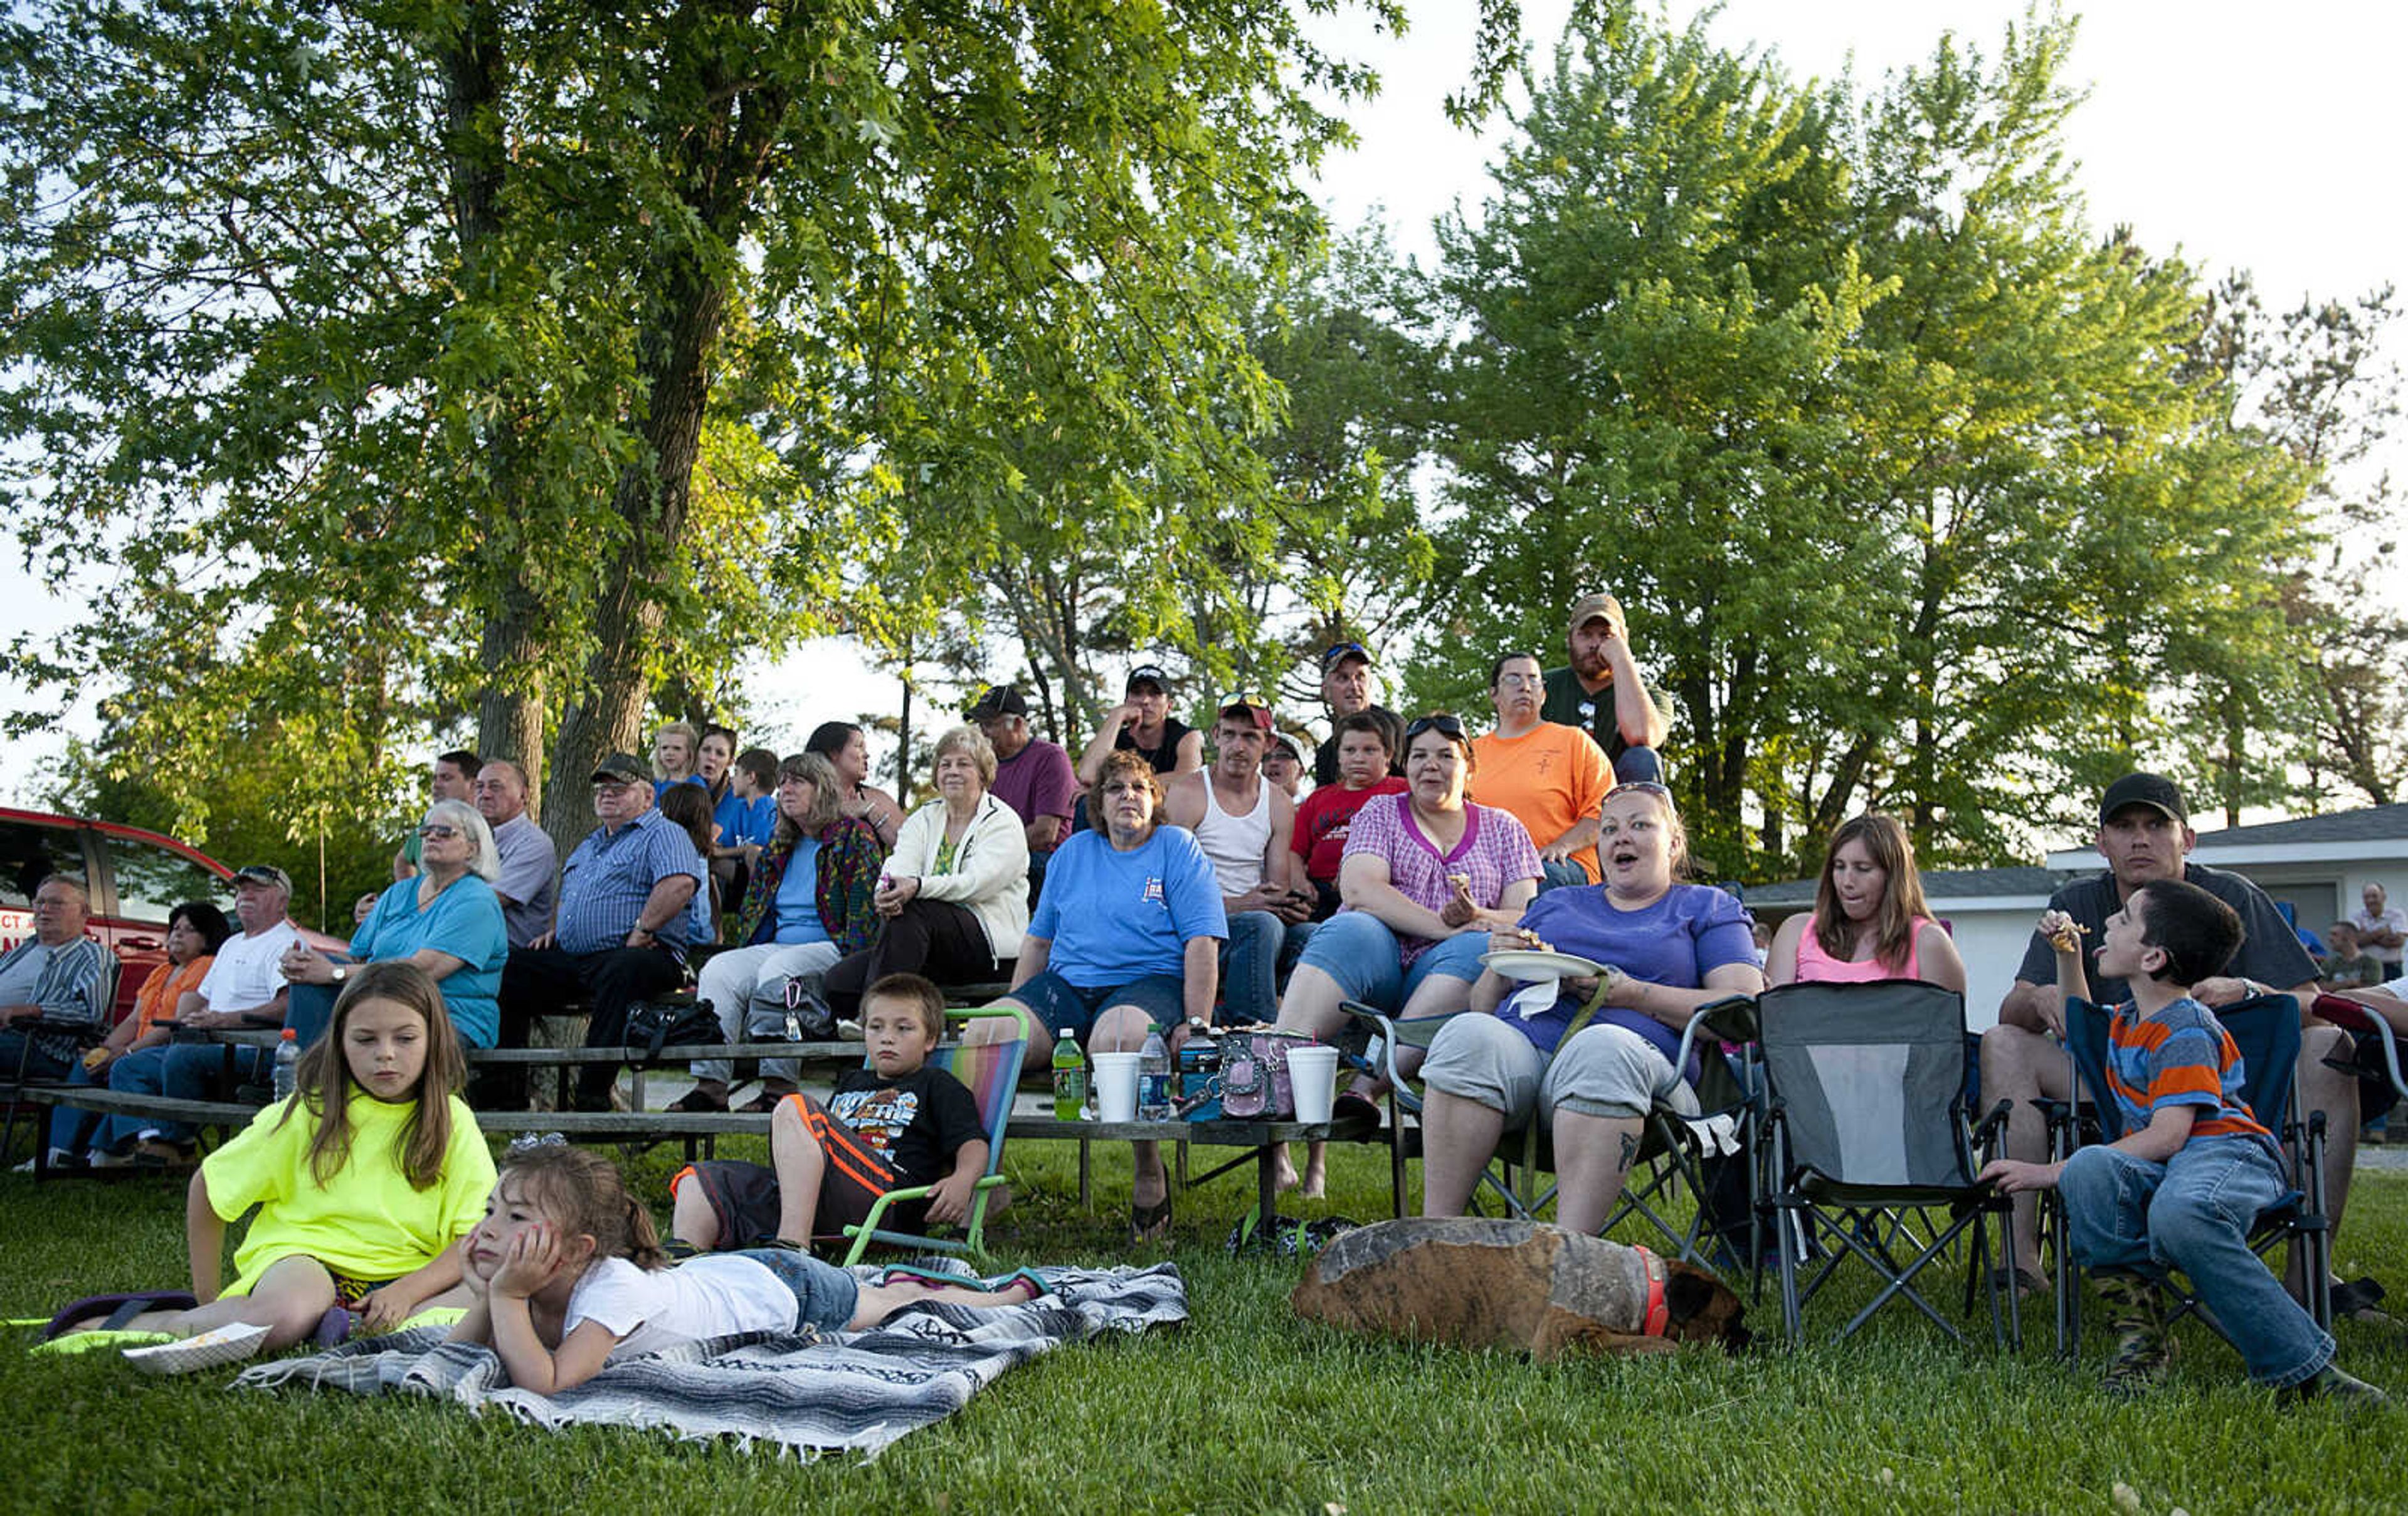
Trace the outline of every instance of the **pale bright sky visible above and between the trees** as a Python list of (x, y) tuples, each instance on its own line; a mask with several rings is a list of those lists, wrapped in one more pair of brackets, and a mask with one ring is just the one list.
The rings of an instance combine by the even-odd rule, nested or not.
[[(1324, 164), (1317, 193), (1336, 224), (1380, 215), (1404, 253), (1435, 251), (1430, 222), (1462, 205), (1476, 215), (1483, 161), (1503, 135), (1447, 125), (1440, 101), (1459, 89), (1474, 36), (1474, 0), (1409, 0), (1404, 39), (1339, 17), (1320, 36), (1382, 75), (1377, 99), (1348, 108), (1361, 145)], [(1686, 22), (1702, 7), (1671, 0)], [(1524, 0), (1524, 36), (1553, 46), (1568, 0)], [(1731, 0), (1712, 22), (1724, 46), (1772, 51), (1794, 77), (1859, 82), (1929, 58), (1941, 31), (1996, 53), (2025, 5), (2008, 0)], [(2100, 231), (2133, 227), (2155, 253), (2182, 251), (2206, 277), (2249, 268), (2268, 309), (2302, 294), (2348, 296), (2408, 284), (2408, 200), (2401, 183), (2401, 96), (2408, 17), (2374, 5), (2292, 0), (2283, 7), (2155, 5), (2112, 0), (2083, 12), (2071, 80), (2088, 101), (2068, 123), (2076, 181)], [(2408, 362), (2408, 333), (2389, 352)], [(2408, 441), (2408, 439), (2403, 439)], [(2394, 472), (2408, 480), (2408, 446)], [(29, 581), (17, 554), (0, 566), (0, 603), (29, 627), (67, 624), (77, 595)], [(106, 593), (106, 583), (82, 593)], [(2408, 593), (2394, 586), (2394, 593)], [(799, 747), (824, 716), (891, 711), (893, 677), (860, 665), (843, 644), (814, 644), (754, 689), (756, 730), (771, 747)], [(0, 670), (0, 706), (31, 697)], [(89, 711), (70, 718), (89, 730)], [(0, 740), (0, 800), (24, 800), (51, 740)]]

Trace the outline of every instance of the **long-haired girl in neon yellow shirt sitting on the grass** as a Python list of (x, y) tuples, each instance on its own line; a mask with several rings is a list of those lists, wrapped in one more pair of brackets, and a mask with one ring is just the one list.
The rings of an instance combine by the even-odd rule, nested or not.
[[(58, 1314), (53, 1338), (147, 1333), (152, 1345), (128, 1357), (181, 1371), (313, 1335), (340, 1342), (354, 1318), (390, 1330), (429, 1306), (470, 1304), (448, 1294), (460, 1282), (453, 1244), (477, 1224), (494, 1157), (455, 1094), (467, 1063), (436, 981), (407, 959), (356, 969), (294, 1073), (294, 1097), (193, 1176), (193, 1292), (92, 1297)], [(219, 1292), (226, 1222), (253, 1205), (234, 1285)]]

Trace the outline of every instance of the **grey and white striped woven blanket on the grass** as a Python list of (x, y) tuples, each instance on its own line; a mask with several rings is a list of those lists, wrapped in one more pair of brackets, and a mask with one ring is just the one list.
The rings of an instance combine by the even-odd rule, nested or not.
[(612, 1359), (559, 1395), (510, 1388), (489, 1347), (445, 1342), (429, 1326), (260, 1364), (236, 1388), (320, 1388), (498, 1405), (537, 1427), (660, 1427), (684, 1439), (732, 1436), (795, 1453), (877, 1453), (970, 1403), (1014, 1364), (1103, 1333), (1187, 1321), (1170, 1263), (1040, 1270), (1055, 1287), (1026, 1306), (968, 1311), (915, 1304), (867, 1333), (749, 1333)]

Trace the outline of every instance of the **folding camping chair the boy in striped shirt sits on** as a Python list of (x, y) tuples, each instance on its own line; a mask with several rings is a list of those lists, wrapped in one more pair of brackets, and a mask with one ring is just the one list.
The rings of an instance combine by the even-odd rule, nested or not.
[[(2218, 1007), (2215, 1020), (2225, 1024), (2225, 1032), (2232, 1034), (2232, 1046), (2239, 1048), (2242, 1073), (2247, 1075), (2242, 1099), (2259, 1118), (2259, 1126), (2276, 1135), (2290, 1162), (2292, 1188), (2259, 1212), (2249, 1227), (2249, 1246), (2259, 1253), (2268, 1253), (2280, 1244), (2302, 1248), (2300, 1277), (2309, 1282), (2307, 1314), (2316, 1318), (2316, 1326), (2331, 1328), (2333, 1275), (2326, 1258), (2331, 1232), (2324, 1217), (2324, 1123), (2302, 1123), (2295, 1118), (2300, 1111), (2300, 1003), (2290, 995), (2256, 995)], [(2382, 1022), (2382, 1017), (2374, 1020)], [(2100, 1142), (2114, 1142), (2124, 1135), (2124, 1118), (2107, 1094), (2107, 1010), (2088, 1000), (2066, 998), (2066, 1053), (2073, 1058), (2081, 1089), (2088, 1094), (2088, 1106), (2083, 1106), (2081, 1116), (2097, 1123), (2095, 1133)], [(2052, 1116), (2052, 1159), (2064, 1162), (2081, 1145), (2083, 1126), (2064, 1106), (2056, 1106)], [(2081, 1352), (2083, 1340), (2081, 1297), (2076, 1292), (2078, 1270), (2073, 1268), (2071, 1248), (2066, 1248), (2064, 1205), (2054, 1193), (2049, 1195), (2049, 1232), (2056, 1239), (2052, 1248), (2056, 1253), (2056, 1350), (2071, 1359)], [(2215, 1328), (2218, 1335), (2225, 1335), (2213, 1311), (2189, 1292), (2179, 1292), (2174, 1309), (2165, 1316), (2167, 1326), (2191, 1311), (2199, 1311), (2201, 1321)]]

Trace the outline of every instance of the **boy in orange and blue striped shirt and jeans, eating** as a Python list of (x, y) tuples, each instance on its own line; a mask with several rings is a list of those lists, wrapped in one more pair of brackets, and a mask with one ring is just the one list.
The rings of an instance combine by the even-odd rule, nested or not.
[[(2049, 911), (2056, 988), (2088, 998), (2081, 935)], [(2107, 918), (2100, 974), (2131, 986), (2107, 1029), (2107, 1092), (2124, 1135), (2061, 1164), (1999, 1159), (1982, 1169), (2006, 1193), (2064, 1195), (2073, 1261), (2109, 1309), (2117, 1355), (2107, 1391), (2136, 1395), (2172, 1367), (2160, 1280), (2189, 1275), (2232, 1335), (2249, 1379), (2297, 1398), (2382, 1400), (2333, 1367), (2333, 1338), (2249, 1251), (2247, 1222), (2290, 1188), (2283, 1152), (2242, 1101), (2242, 1058), (2191, 986), (2218, 974), (2242, 942), (2225, 901), (2184, 880), (2153, 880)]]

